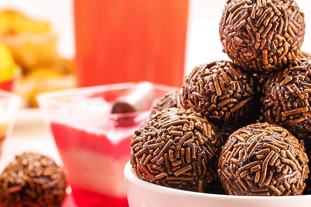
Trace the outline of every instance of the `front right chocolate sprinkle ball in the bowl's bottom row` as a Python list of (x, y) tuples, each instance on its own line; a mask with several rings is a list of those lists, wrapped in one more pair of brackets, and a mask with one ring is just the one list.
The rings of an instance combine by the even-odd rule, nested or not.
[(301, 195), (308, 157), (286, 129), (256, 123), (235, 131), (224, 144), (218, 175), (229, 195)]

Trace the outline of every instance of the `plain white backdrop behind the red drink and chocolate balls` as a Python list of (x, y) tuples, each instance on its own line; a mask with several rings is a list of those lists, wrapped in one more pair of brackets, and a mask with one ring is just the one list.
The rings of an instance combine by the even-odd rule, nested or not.
[[(305, 13), (306, 36), (303, 51), (311, 52), (310, 0), (296, 0)], [(203, 63), (225, 60), (218, 25), (226, 0), (190, 0), (185, 74)], [(50, 21), (59, 34), (59, 53), (75, 56), (73, 0), (0, 0), (1, 8), (14, 8), (30, 17)], [(310, 25), (308, 24), (310, 23)]]

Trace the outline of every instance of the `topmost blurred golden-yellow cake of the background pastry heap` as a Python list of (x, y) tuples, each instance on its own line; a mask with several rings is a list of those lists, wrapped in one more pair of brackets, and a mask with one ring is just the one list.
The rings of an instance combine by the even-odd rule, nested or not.
[(57, 35), (46, 21), (37, 21), (14, 10), (0, 10), (0, 42), (7, 45), (24, 73), (54, 62)]

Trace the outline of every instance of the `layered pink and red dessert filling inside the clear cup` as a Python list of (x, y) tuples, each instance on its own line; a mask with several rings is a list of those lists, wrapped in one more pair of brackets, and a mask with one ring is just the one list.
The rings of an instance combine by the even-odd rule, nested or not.
[[(111, 105), (106, 111), (110, 109)], [(140, 117), (145, 115), (147, 119), (149, 114), (149, 111), (144, 112)], [(84, 124), (88, 121), (86, 119)], [(72, 124), (51, 122), (55, 143), (79, 207), (128, 207), (123, 169), (130, 159), (130, 140), (142, 121), (115, 127), (115, 120), (103, 118), (97, 120), (103, 124), (98, 128), (80, 128), (83, 120)]]

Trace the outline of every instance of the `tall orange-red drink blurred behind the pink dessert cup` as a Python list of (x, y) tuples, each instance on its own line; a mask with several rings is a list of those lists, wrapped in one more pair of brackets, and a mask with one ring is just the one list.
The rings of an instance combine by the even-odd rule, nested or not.
[(78, 86), (181, 87), (188, 0), (75, 0)]

